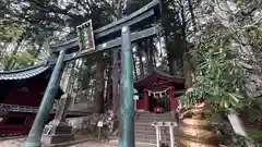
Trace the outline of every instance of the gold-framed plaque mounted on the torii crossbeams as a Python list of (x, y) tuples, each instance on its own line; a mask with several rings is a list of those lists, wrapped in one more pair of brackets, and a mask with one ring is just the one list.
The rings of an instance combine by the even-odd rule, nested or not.
[(76, 27), (81, 53), (95, 50), (92, 20)]

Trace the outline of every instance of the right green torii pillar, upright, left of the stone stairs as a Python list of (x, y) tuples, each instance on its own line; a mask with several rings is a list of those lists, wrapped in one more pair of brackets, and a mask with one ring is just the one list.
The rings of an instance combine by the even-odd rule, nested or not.
[(122, 97), (120, 102), (119, 147), (134, 147), (133, 65), (130, 28), (122, 27)]

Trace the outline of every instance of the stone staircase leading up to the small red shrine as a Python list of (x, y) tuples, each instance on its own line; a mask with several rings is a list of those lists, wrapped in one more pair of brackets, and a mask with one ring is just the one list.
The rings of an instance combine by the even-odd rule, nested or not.
[[(175, 117), (170, 112), (167, 113), (151, 113), (151, 112), (138, 112), (135, 118), (135, 142), (156, 144), (156, 131), (152, 126), (152, 122), (176, 122)], [(177, 131), (175, 128), (175, 140)], [(169, 127), (162, 128), (162, 142), (169, 143)]]

